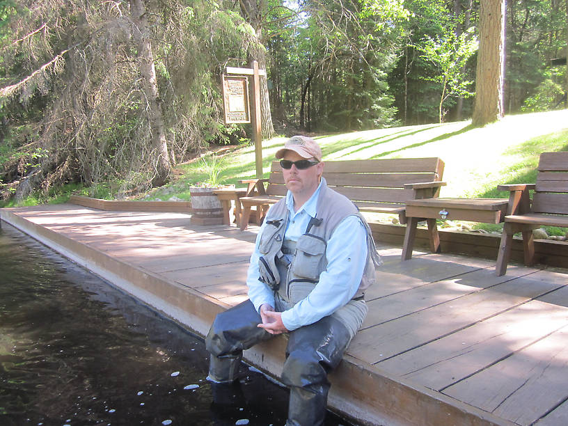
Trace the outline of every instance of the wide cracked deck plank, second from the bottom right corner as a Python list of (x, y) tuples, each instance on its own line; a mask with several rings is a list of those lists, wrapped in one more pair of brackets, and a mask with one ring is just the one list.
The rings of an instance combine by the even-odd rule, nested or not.
[(530, 425), (568, 397), (567, 341), (568, 326), (443, 393)]

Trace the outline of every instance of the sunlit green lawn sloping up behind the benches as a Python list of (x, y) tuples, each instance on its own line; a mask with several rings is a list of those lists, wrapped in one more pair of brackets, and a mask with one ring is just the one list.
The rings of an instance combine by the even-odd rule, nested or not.
[[(322, 146), (324, 160), (440, 157), (445, 162), (443, 180), (448, 183), (442, 188), (441, 196), (507, 198), (508, 194), (497, 191), (498, 184), (534, 183), (541, 152), (568, 150), (567, 123), (568, 110), (564, 109), (506, 116), (482, 128), (462, 121), (315, 136), (315, 139)], [(284, 141), (285, 137), (276, 137), (262, 142), (265, 178), (276, 150)], [(221, 184), (243, 186), (239, 180), (255, 177), (254, 147), (222, 148), (214, 156), (207, 154), (180, 164), (170, 184), (140, 198), (167, 200), (175, 196), (189, 200), (189, 187), (211, 180), (212, 174)], [(500, 230), (500, 226), (487, 224), (478, 227), (489, 232)], [(565, 234), (562, 228), (553, 232)]]

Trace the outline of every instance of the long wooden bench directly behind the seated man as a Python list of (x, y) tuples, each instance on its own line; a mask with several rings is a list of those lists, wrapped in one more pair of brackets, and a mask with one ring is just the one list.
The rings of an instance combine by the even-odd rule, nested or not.
[[(404, 214), (407, 200), (432, 198), (439, 195), (444, 163), (439, 158), (369, 159), (325, 161), (324, 178), (329, 187), (352, 200), (361, 212), (398, 214), (400, 223), (406, 223)], [(266, 190), (258, 182), (268, 182)], [(258, 216), (266, 214), (269, 205), (286, 195), (282, 168), (273, 161), (268, 180), (257, 182), (258, 194), (242, 197), (241, 229), (248, 226), (251, 207)], [(262, 189), (261, 189), (262, 188)], [(258, 223), (260, 224), (260, 220)]]

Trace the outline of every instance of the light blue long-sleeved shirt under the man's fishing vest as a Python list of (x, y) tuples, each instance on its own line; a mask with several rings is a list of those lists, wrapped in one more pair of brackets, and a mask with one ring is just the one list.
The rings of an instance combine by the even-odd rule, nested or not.
[[(294, 212), (292, 193), (287, 192), (286, 206), (290, 211), (284, 238), (297, 241), (306, 232), (310, 218), (315, 217), (317, 196), (321, 183), (310, 199)], [(260, 310), (263, 303), (274, 307), (274, 292), (258, 280), (258, 243), (266, 223), (258, 232), (255, 251), (251, 255), (246, 285), (248, 298), (255, 309)], [(347, 216), (337, 226), (327, 242), (327, 269), (319, 276), (319, 282), (306, 299), (296, 303), (293, 308), (282, 313), (284, 326), (292, 331), (301, 326), (313, 324), (326, 315), (331, 315), (352, 299), (358, 290), (363, 269), (367, 261), (367, 231), (358, 216)], [(282, 283), (281, 285), (285, 285)]]

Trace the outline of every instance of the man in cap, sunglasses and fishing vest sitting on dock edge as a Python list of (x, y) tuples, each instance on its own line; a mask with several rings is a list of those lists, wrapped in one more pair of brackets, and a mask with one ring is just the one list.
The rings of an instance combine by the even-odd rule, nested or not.
[(364, 292), (381, 260), (368, 223), (327, 187), (319, 145), (293, 136), (276, 152), (287, 196), (273, 205), (248, 268), (247, 301), (217, 315), (207, 336), (209, 379), (232, 383), (242, 351), (289, 333), (281, 380), (290, 387), (287, 425), (323, 425), (327, 374), (367, 313)]

